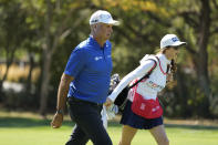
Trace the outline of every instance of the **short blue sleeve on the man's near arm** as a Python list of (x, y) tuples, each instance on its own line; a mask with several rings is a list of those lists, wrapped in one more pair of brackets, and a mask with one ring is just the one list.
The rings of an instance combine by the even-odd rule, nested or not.
[(64, 73), (76, 77), (81, 70), (85, 66), (85, 52), (82, 49), (75, 49), (66, 63)]

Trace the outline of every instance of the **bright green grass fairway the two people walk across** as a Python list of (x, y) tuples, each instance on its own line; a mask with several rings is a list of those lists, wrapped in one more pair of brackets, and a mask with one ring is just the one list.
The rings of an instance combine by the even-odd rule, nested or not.
[[(34, 115), (0, 113), (0, 145), (64, 145), (72, 132), (66, 118), (59, 130), (50, 127), (50, 121)], [(118, 144), (122, 126), (110, 122), (108, 133), (114, 145)], [(218, 145), (218, 126), (166, 124), (172, 145)], [(92, 145), (89, 142), (87, 145)], [(156, 145), (148, 131), (138, 131), (132, 145)]]

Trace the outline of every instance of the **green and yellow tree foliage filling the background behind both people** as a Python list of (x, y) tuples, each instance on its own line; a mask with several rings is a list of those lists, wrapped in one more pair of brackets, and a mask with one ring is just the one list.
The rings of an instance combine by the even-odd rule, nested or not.
[[(89, 37), (89, 18), (97, 9), (108, 10), (122, 22), (113, 28), (111, 39), (113, 73), (124, 76), (138, 65), (143, 55), (155, 53), (164, 34), (175, 33), (188, 45), (178, 58), (177, 85), (163, 92), (166, 115), (218, 116), (218, 0), (0, 0), (0, 60), (8, 60), (8, 68), (14, 60), (29, 62), (22, 82), (24, 92), (29, 92), (31, 84), (37, 85), (33, 93), (23, 93), (30, 99), (30, 107), (35, 102), (41, 104), (40, 95), (48, 95), (46, 108), (55, 107), (66, 61), (72, 50)], [(33, 82), (38, 68), (41, 73)], [(0, 75), (3, 82), (2, 71)], [(48, 94), (40, 93), (44, 86)]]

